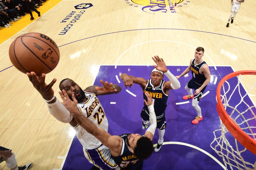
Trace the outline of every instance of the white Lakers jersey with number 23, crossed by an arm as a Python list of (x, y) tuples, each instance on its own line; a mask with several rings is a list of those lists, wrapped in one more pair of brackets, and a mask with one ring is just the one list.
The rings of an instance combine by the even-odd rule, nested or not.
[[(99, 99), (94, 93), (84, 92), (88, 100), (84, 103), (77, 103), (80, 112), (90, 119), (97, 127), (108, 131), (108, 120)], [(74, 127), (76, 136), (85, 149), (95, 149), (101, 145), (101, 142), (88, 133), (84, 128), (77, 125)]]

